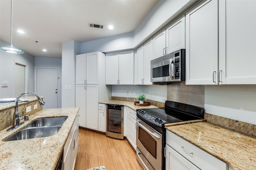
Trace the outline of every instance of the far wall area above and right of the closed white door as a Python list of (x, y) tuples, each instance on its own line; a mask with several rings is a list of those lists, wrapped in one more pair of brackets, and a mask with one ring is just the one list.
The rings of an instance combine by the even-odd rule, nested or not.
[[(49, 57), (35, 57), (35, 66), (58, 67), (58, 68), (60, 68), (60, 89), (59, 89), (59, 92), (62, 92), (62, 74), (61, 74), (62, 73), (62, 59), (49, 58)], [(60, 108), (62, 106), (61, 105), (61, 98), (62, 98), (62, 93), (60, 93)]]

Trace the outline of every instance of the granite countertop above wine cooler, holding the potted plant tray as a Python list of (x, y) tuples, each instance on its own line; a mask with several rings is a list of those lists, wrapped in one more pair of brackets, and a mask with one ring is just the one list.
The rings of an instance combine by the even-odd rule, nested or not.
[(99, 102), (102, 104), (116, 104), (116, 105), (124, 105), (127, 106), (131, 109), (133, 109), (134, 111), (136, 111), (137, 109), (148, 109), (148, 108), (156, 108), (158, 106), (155, 105), (150, 105), (150, 106), (136, 106), (134, 105), (133, 101), (126, 101), (126, 100), (106, 100), (103, 102)]

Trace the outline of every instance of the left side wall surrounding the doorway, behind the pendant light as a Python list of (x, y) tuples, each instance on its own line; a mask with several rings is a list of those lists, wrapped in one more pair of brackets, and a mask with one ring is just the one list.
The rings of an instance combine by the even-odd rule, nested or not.
[[(0, 40), (0, 47), (10, 47), (10, 44)], [(0, 98), (17, 97), (14, 96), (14, 62), (27, 65), (27, 86), (25, 89), (34, 92), (34, 56), (26, 52), (24, 54), (11, 54), (0, 51), (0, 83), (3, 80), (8, 81), (8, 88), (0, 86)]]

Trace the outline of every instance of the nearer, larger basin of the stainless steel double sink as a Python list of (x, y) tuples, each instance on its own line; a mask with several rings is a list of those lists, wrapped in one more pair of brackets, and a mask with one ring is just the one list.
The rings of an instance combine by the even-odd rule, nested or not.
[(32, 127), (28, 129), (22, 129), (7, 138), (4, 141), (16, 141), (23, 139), (33, 139), (39, 137), (49, 137), (55, 135), (60, 130), (61, 126), (46, 126), (46, 127)]

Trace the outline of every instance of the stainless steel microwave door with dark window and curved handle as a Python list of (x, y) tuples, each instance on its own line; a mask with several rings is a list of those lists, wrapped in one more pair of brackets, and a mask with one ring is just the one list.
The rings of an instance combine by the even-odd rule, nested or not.
[(174, 81), (174, 60), (168, 59), (151, 64), (151, 82)]

